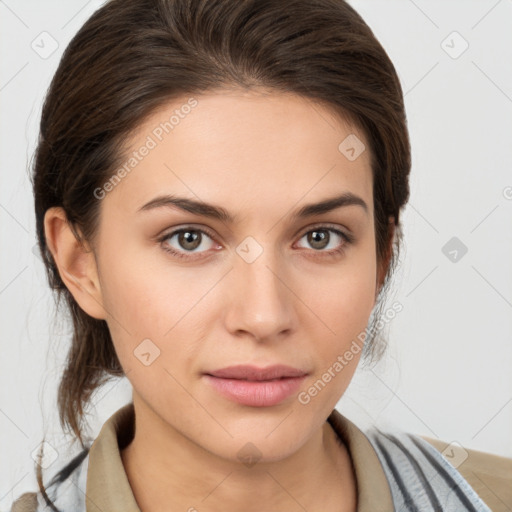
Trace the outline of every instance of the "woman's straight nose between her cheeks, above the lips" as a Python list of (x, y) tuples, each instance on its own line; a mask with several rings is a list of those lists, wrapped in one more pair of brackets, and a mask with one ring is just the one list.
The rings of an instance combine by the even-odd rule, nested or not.
[(252, 337), (258, 342), (290, 335), (296, 330), (298, 318), (292, 273), (270, 249), (262, 250), (254, 261), (240, 254), (235, 255), (227, 283), (227, 329), (235, 336)]

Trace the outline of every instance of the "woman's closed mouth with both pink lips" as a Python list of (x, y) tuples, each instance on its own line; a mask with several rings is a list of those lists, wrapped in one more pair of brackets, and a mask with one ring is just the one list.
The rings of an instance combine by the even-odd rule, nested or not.
[(238, 365), (205, 373), (206, 382), (223, 397), (251, 407), (277, 405), (296, 393), (308, 373), (286, 365), (258, 368)]

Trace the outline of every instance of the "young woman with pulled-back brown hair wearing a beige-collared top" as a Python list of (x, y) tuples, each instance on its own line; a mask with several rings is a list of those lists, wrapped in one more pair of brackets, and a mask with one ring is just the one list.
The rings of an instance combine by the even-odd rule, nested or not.
[[(490, 510), (425, 440), (334, 409), (381, 351), (410, 165), (395, 69), (345, 2), (107, 2), (34, 166), (83, 451), (12, 510)], [(91, 446), (121, 375), (133, 403)]]

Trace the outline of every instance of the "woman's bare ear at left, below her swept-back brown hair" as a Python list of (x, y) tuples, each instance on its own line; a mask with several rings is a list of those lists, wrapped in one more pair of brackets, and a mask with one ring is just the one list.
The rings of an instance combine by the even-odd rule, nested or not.
[(73, 233), (61, 207), (49, 208), (44, 216), (46, 243), (59, 275), (78, 305), (93, 318), (104, 320), (98, 269), (94, 252)]

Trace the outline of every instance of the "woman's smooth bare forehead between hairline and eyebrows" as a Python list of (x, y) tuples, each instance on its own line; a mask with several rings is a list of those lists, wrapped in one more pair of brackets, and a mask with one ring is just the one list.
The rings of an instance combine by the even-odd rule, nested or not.
[(107, 199), (126, 213), (162, 193), (235, 213), (251, 206), (277, 214), (345, 191), (372, 206), (364, 134), (294, 94), (223, 90), (169, 101), (127, 139), (121, 167)]

